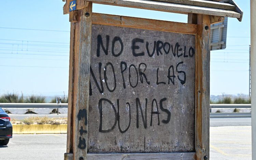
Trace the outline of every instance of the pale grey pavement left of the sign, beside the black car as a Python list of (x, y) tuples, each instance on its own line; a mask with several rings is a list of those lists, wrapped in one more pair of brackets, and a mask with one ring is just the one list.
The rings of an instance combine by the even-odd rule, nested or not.
[(63, 160), (67, 134), (14, 134), (8, 146), (0, 146), (4, 160)]

